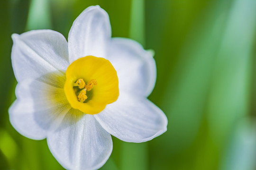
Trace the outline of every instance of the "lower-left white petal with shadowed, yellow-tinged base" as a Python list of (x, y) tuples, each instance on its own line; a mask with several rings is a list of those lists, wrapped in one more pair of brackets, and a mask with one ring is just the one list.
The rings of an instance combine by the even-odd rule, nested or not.
[(44, 139), (71, 108), (63, 88), (38, 80), (18, 83), (16, 96), (9, 109), (10, 122), (20, 134), (31, 139)]

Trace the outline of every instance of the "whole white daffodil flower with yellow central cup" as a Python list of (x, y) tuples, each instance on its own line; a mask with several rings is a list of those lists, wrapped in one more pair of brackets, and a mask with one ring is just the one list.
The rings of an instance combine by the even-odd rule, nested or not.
[(110, 134), (139, 143), (166, 131), (165, 114), (146, 99), (156, 78), (151, 53), (133, 40), (111, 38), (109, 16), (99, 6), (76, 18), (68, 42), (52, 30), (12, 38), (18, 85), (10, 122), (23, 136), (47, 138), (64, 168), (99, 169), (112, 152)]

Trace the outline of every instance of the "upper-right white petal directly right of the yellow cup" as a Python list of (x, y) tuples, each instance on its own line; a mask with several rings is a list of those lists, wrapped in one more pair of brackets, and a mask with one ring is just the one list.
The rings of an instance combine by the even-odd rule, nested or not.
[(108, 58), (117, 70), (120, 92), (148, 96), (156, 79), (152, 53), (131, 39), (112, 38)]

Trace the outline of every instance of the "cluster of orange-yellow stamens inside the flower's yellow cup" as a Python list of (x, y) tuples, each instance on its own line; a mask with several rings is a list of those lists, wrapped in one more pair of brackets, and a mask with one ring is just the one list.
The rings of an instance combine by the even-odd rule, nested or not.
[(78, 101), (79, 102), (84, 102), (88, 97), (86, 95), (86, 92), (90, 91), (94, 85), (97, 85), (97, 81), (95, 79), (92, 79), (91, 81), (89, 81), (87, 83), (87, 85), (85, 84), (85, 82), (83, 81), (82, 78), (79, 78), (73, 86), (78, 86), (78, 88), (82, 89), (80, 91), (80, 93), (78, 94)]

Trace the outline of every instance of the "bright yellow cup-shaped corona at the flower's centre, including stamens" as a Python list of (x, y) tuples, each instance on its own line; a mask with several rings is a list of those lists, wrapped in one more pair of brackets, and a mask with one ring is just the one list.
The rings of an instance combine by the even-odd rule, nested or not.
[(117, 72), (107, 59), (82, 57), (67, 68), (64, 92), (74, 109), (86, 114), (100, 113), (118, 99)]

